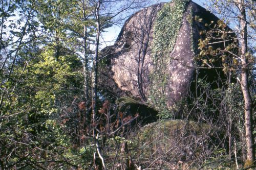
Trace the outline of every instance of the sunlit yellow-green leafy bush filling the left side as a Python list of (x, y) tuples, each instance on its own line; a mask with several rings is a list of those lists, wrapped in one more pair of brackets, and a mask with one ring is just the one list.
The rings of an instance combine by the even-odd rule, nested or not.
[[(70, 130), (63, 124), (61, 114), (74, 98), (81, 96), (81, 62), (69, 54), (59, 56), (57, 61), (54, 48), (48, 46), (31, 57), (24, 71), (22, 60), (13, 71), (12, 80), (22, 81), (18, 84), (10, 81), (6, 85), (7, 91), (13, 91), (9, 93), (10, 98), (4, 98), (0, 116), (1, 157), (9, 155), (3, 162), (6, 167), (14, 164), (22, 168), (24, 162), (26, 165), (27, 161), (47, 159), (65, 164), (61, 155), (72, 145)], [(13, 154), (14, 149), (16, 154)], [(70, 161), (69, 157), (66, 159)]]

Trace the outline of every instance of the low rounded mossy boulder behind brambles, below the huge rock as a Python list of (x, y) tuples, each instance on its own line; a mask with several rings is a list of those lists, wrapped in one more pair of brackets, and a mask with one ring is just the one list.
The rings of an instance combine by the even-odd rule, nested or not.
[[(166, 120), (144, 126), (130, 137), (132, 157), (145, 166), (174, 168), (196, 166), (214, 156), (218, 145), (212, 127), (185, 120)], [(223, 150), (218, 150), (225, 152)], [(216, 156), (216, 155), (215, 155)], [(149, 161), (149, 162), (148, 162)], [(168, 162), (168, 163), (167, 163)], [(174, 166), (170, 166), (174, 165)], [(145, 168), (145, 167), (144, 167)]]

